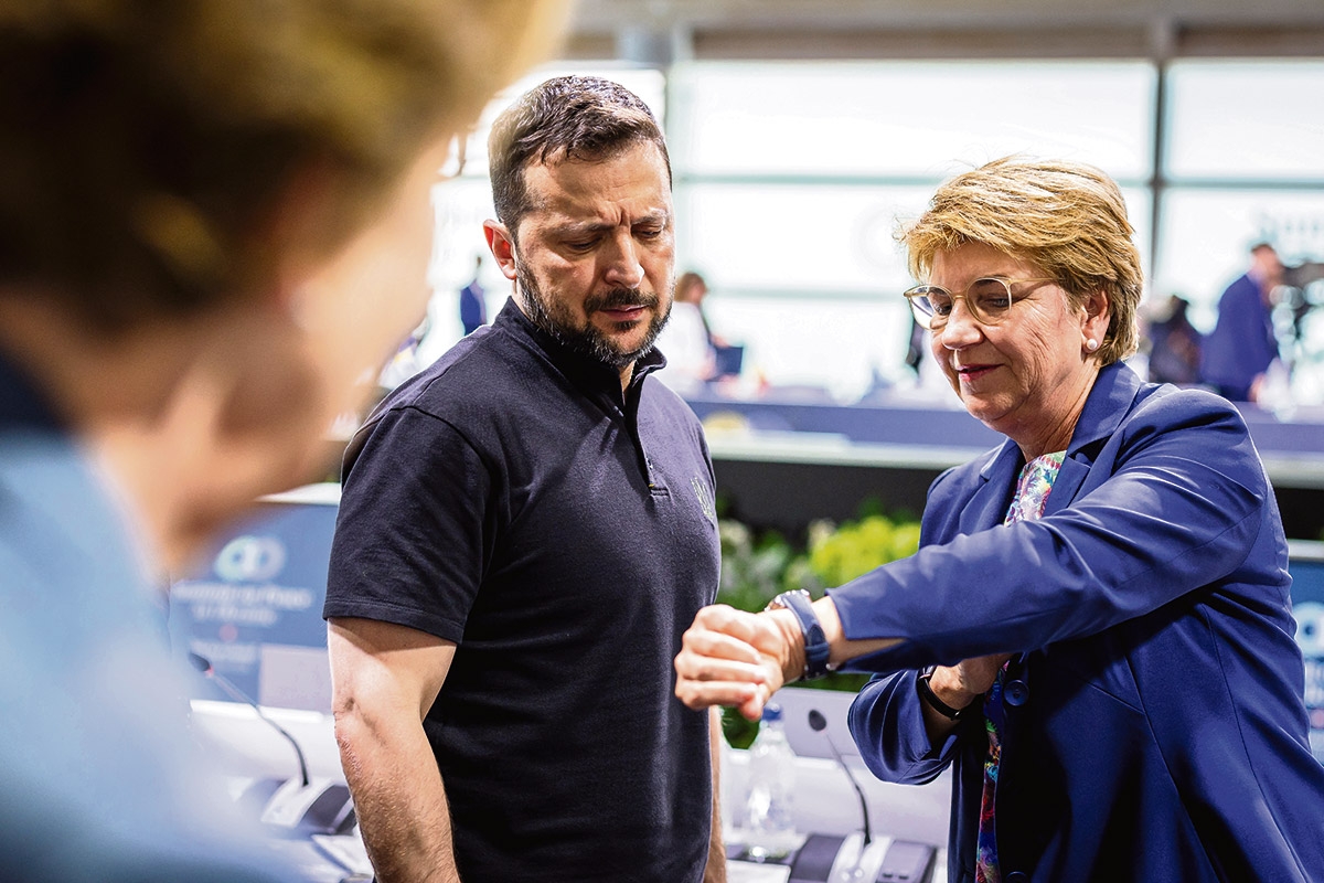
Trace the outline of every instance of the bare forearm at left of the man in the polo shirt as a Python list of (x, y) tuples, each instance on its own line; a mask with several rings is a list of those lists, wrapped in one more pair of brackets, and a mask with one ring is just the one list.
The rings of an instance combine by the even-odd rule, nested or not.
[(379, 883), (459, 883), (446, 792), (422, 729), (336, 720), (340, 763)]

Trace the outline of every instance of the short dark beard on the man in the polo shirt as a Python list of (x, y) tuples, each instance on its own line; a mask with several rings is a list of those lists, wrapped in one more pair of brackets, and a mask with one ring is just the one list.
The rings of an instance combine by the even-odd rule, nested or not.
[[(671, 318), (669, 301), (666, 312), (653, 312), (647, 332), (643, 335), (639, 346), (626, 349), (593, 324), (593, 314), (600, 310), (630, 306), (657, 310), (659, 303), (657, 294), (650, 294), (639, 289), (612, 289), (602, 294), (591, 295), (584, 301), (584, 320), (577, 322), (576, 316), (563, 303), (543, 294), (543, 290), (534, 279), (534, 274), (528, 273), (523, 263), (515, 265), (515, 281), (519, 285), (519, 290), (524, 293), (528, 318), (535, 326), (552, 335), (552, 338), (573, 352), (588, 356), (617, 371), (634, 363), (639, 356), (646, 355), (657, 342), (658, 334), (662, 332), (667, 319)], [(618, 322), (614, 324), (617, 331), (628, 331), (636, 323)]]

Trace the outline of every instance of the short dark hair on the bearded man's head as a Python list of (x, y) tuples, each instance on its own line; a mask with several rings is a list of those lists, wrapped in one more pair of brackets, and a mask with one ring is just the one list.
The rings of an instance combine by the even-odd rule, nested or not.
[(620, 83), (601, 77), (555, 77), (502, 111), (487, 139), (493, 204), (511, 237), (534, 208), (524, 169), (535, 163), (601, 160), (639, 143), (655, 144), (671, 183), (662, 128), (649, 106)]

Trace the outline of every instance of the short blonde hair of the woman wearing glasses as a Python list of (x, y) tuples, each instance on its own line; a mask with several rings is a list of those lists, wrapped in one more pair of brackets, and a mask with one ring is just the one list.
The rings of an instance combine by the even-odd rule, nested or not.
[(1076, 308), (1103, 290), (1112, 318), (1098, 357), (1111, 364), (1139, 346), (1144, 274), (1133, 234), (1121, 191), (1100, 169), (1006, 156), (941, 184), (898, 238), (916, 279), (928, 278), (939, 252), (980, 242), (1042, 269)]

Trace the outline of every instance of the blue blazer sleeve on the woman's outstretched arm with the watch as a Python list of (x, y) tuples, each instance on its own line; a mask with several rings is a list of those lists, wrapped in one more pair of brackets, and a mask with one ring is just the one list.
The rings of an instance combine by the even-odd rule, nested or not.
[(1005, 496), (1014, 469), (996, 471), (936, 482), (931, 541), (830, 590), (846, 637), (904, 639), (851, 667), (952, 665), (1099, 633), (1234, 572), (1272, 507), (1241, 414), (1174, 388), (1137, 398), (1113, 432), (1068, 450), (1061, 496), (1038, 520), (963, 523), (963, 507), (989, 492), (981, 483)]

